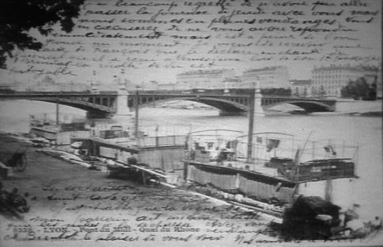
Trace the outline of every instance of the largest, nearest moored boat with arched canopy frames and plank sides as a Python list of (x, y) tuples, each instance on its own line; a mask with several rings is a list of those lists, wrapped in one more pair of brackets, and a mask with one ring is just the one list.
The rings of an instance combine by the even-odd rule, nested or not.
[(312, 226), (317, 228), (310, 236), (330, 237), (330, 229), (340, 225), (339, 212), (353, 203), (345, 188), (357, 178), (358, 148), (342, 141), (304, 140), (274, 132), (253, 134), (250, 144), (247, 140), (248, 136), (228, 130), (190, 133), (184, 160), (187, 181), (201, 193), (273, 215), (290, 229), (294, 224), (302, 226), (291, 213), (298, 198), (304, 202), (315, 198), (323, 210), (313, 211)]

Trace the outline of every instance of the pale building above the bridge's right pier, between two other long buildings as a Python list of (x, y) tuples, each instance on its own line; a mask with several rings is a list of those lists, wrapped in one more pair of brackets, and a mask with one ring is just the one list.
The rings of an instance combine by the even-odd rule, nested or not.
[(289, 72), (286, 66), (272, 66), (250, 69), (242, 74), (242, 88), (290, 88)]

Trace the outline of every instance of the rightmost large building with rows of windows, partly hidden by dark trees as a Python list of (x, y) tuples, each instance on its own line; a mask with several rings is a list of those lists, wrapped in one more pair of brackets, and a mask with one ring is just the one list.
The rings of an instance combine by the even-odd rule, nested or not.
[(378, 68), (366, 66), (330, 65), (312, 70), (312, 92), (317, 96), (341, 96), (341, 90), (350, 81), (364, 77), (368, 84), (376, 83)]

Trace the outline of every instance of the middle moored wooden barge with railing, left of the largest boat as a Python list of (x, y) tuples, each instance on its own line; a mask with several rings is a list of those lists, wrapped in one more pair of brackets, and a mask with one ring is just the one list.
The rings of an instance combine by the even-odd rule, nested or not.
[[(132, 140), (73, 138), (78, 153), (103, 160), (109, 177), (151, 178), (175, 184), (182, 180), (187, 136), (139, 137)], [(95, 164), (95, 169), (98, 168)], [(179, 171), (179, 173), (175, 173)], [(181, 174), (180, 178), (175, 178)]]

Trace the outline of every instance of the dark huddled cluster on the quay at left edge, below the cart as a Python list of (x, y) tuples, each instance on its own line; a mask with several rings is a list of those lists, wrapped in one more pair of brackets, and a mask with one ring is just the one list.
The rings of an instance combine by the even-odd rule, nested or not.
[(18, 194), (18, 189), (13, 188), (12, 191), (6, 191), (3, 189), (3, 185), (0, 182), (0, 213), (10, 214), (13, 217), (21, 218), (19, 213), (26, 213), (29, 211), (27, 204), (28, 193), (24, 196)]

